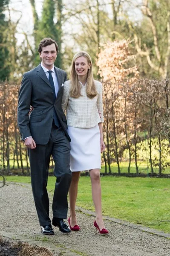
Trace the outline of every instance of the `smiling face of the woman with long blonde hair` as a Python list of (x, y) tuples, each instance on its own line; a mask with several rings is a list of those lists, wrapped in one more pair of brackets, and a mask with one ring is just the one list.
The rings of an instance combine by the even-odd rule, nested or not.
[(75, 60), (75, 72), (78, 76), (86, 76), (90, 66), (91, 65), (88, 63), (87, 59), (83, 56), (78, 57)]

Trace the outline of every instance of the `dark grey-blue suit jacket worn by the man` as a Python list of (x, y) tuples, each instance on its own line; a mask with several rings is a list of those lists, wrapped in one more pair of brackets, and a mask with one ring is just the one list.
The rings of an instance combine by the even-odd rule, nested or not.
[[(40, 65), (23, 75), (17, 111), (17, 121), (22, 140), (32, 136), (36, 144), (47, 144), (55, 108), (63, 131), (70, 141), (67, 133), (66, 116), (61, 108), (63, 96), (63, 86), (61, 85), (67, 80), (66, 72), (57, 67), (55, 67), (55, 72), (59, 87), (55, 103), (52, 86)], [(30, 105), (34, 107), (34, 110), (29, 116)]]

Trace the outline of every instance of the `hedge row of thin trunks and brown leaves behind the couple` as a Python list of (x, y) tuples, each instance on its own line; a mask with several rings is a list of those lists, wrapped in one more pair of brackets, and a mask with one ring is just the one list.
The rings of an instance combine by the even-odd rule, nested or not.
[[(0, 84), (0, 169), (9, 174), (20, 169), (29, 173), (27, 150), (17, 128), (17, 96), (19, 86)], [(103, 82), (104, 140), (102, 154), (105, 172), (111, 174), (111, 164), (128, 162), (130, 173), (135, 161), (136, 174), (141, 160), (150, 172), (161, 174), (170, 165), (170, 84), (142, 79), (131, 86), (124, 83), (118, 90)], [(50, 163), (53, 165), (53, 163)]]

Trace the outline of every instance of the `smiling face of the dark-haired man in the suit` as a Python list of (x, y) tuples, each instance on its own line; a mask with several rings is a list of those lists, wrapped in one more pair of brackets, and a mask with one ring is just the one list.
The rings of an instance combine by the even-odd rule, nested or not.
[(54, 62), (57, 58), (57, 51), (55, 48), (55, 44), (47, 45), (42, 48), (42, 52), (39, 53), (42, 64), (47, 69), (52, 69)]

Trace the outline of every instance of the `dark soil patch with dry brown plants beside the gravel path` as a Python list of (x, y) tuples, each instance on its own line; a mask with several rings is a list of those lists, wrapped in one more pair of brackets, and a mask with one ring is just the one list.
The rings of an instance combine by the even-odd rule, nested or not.
[(31, 246), (28, 243), (9, 242), (0, 237), (1, 256), (53, 256), (48, 249), (37, 245)]

